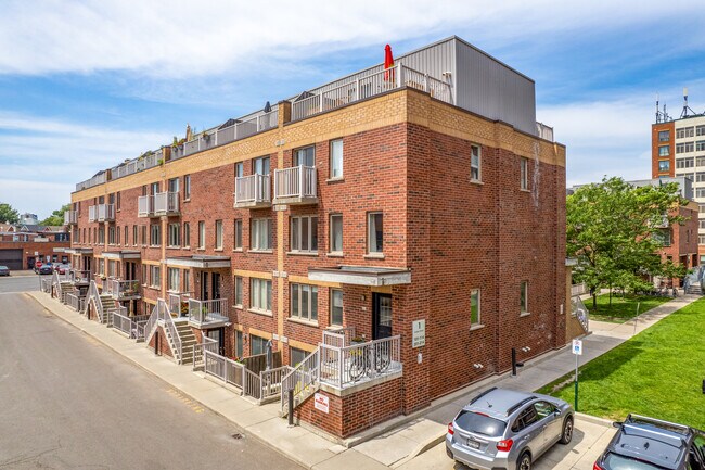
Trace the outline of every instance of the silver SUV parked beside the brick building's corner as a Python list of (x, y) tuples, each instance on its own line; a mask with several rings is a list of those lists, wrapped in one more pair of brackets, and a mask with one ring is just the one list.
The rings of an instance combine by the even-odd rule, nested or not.
[(446, 453), (479, 470), (530, 470), (553, 444), (573, 439), (573, 407), (538, 393), (492, 388), (448, 424)]

